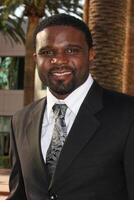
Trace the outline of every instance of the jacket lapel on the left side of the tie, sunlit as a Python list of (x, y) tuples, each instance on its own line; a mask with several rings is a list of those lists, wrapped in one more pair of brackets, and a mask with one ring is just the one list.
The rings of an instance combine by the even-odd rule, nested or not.
[[(29, 151), (31, 156), (34, 157), (33, 160), (35, 160), (36, 165), (38, 165), (38, 172), (41, 173), (41, 177), (42, 174), (44, 173), (46, 173), (46, 176), (48, 176), (43, 156), (41, 153), (41, 142), (40, 142), (42, 120), (43, 120), (45, 106), (46, 106), (46, 100), (40, 101), (38, 105), (35, 106), (35, 109), (33, 109), (31, 115), (29, 116), (27, 131), (26, 131)], [(46, 176), (44, 175), (44, 177)]]

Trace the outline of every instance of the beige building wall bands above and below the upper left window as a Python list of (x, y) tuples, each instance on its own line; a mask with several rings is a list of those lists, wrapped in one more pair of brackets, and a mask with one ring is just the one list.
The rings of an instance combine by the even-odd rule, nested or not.
[[(0, 33), (0, 56), (25, 56), (25, 47)], [(22, 107), (23, 90), (0, 90), (0, 115), (12, 115)]]

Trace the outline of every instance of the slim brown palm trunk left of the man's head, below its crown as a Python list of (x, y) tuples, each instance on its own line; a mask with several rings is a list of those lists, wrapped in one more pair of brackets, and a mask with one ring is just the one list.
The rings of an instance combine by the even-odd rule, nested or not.
[(35, 63), (33, 60), (33, 31), (35, 30), (38, 22), (38, 16), (29, 16), (28, 29), (26, 34), (24, 105), (27, 105), (34, 100)]

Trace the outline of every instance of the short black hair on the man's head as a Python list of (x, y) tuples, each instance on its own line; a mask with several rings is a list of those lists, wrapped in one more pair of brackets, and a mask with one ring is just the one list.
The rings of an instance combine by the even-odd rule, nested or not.
[(59, 26), (59, 25), (72, 26), (82, 31), (85, 35), (88, 47), (91, 48), (93, 46), (92, 35), (86, 23), (74, 16), (62, 13), (47, 17), (37, 25), (33, 35), (34, 47), (36, 47), (36, 36), (40, 31), (50, 26)]

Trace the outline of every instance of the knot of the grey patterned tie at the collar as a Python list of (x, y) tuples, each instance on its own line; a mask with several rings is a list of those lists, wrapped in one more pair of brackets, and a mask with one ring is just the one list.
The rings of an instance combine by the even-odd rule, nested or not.
[(54, 104), (53, 106), (53, 112), (56, 116), (65, 117), (66, 110), (67, 110), (66, 104)]

